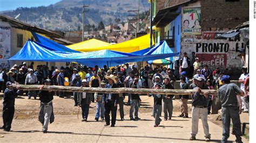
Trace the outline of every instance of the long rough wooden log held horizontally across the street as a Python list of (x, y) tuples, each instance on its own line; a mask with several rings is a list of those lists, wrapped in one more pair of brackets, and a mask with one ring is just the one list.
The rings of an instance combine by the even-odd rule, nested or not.
[[(16, 88), (16, 84), (13, 87)], [(19, 84), (21, 90), (39, 90), (41, 85), (23, 85)], [(55, 91), (68, 91), (68, 92), (99, 92), (103, 94), (162, 94), (162, 95), (193, 95), (196, 90), (192, 89), (134, 89), (134, 88), (83, 88), (83, 87), (64, 87), (57, 85), (44, 85), (43, 90), (55, 90)], [(202, 92), (208, 92), (209, 95), (218, 95), (217, 90), (202, 90)]]

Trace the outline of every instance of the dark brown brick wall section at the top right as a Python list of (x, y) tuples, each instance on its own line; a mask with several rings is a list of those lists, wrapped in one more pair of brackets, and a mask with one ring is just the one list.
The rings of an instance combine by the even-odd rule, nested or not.
[[(231, 29), (249, 20), (249, 0), (200, 0), (202, 31)], [(212, 30), (213, 30), (212, 29)]]

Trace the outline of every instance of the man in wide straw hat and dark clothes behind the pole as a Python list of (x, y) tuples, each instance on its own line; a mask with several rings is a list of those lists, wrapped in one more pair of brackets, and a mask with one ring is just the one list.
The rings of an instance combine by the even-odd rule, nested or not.
[[(109, 83), (106, 84), (106, 88), (118, 88), (116, 77), (114, 75), (106, 76)], [(118, 94), (103, 94), (102, 102), (105, 107), (105, 126), (110, 125), (110, 111), (111, 111), (111, 127), (116, 124), (117, 118), (117, 104)]]

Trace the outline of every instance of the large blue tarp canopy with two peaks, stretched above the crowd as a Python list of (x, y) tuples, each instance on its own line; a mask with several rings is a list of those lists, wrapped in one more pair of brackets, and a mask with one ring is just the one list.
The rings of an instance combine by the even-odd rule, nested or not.
[(160, 42), (145, 53), (132, 54), (110, 50), (101, 50), (86, 53), (72, 53), (53, 51), (52, 48), (28, 40), (23, 48), (9, 60), (22, 61), (44, 61), (44, 62), (78, 62), (82, 65), (94, 67), (117, 66), (126, 62), (149, 61), (177, 56), (179, 53), (172, 53), (165, 41)]

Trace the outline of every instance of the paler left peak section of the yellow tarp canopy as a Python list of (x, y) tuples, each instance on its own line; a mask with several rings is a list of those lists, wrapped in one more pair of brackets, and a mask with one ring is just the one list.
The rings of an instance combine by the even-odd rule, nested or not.
[(87, 51), (84, 51), (84, 49), (95, 49), (98, 47), (104, 47), (104, 46), (110, 46), (110, 45), (111, 44), (98, 39), (90, 39), (90, 40), (78, 42), (76, 44), (72, 44), (66, 47), (79, 52), (87, 52)]

